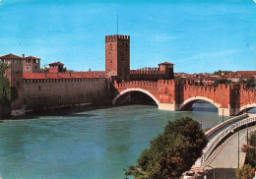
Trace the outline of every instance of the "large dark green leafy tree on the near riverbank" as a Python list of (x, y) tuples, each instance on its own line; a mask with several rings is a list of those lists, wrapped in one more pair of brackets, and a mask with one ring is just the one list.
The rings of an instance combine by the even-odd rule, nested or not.
[(177, 178), (189, 170), (202, 150), (207, 138), (200, 124), (189, 117), (170, 122), (164, 131), (151, 141), (137, 159), (137, 166), (130, 166), (126, 175), (136, 179)]

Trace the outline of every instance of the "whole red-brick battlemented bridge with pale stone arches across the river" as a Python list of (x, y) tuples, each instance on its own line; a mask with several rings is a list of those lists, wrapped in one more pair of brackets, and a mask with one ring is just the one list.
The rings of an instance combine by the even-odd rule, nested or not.
[(116, 93), (112, 103), (121, 102), (127, 95), (140, 91), (151, 96), (162, 110), (189, 110), (205, 100), (214, 104), (219, 115), (231, 116), (256, 107), (256, 91), (246, 85), (195, 86), (191, 81), (159, 80), (114, 83)]

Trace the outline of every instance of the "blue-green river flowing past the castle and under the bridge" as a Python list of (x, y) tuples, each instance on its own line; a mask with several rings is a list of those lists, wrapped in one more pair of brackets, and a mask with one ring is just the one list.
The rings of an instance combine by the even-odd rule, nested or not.
[[(0, 122), (3, 179), (122, 179), (167, 120), (183, 116), (203, 128), (222, 122), (217, 108), (196, 103), (193, 111), (161, 111), (152, 105), (70, 109)], [(224, 120), (228, 117), (224, 117)]]

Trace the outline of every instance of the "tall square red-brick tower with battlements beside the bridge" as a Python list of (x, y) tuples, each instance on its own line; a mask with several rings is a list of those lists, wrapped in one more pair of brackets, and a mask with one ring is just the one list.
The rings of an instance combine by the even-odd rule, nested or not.
[(130, 36), (105, 36), (105, 72), (117, 81), (130, 80)]

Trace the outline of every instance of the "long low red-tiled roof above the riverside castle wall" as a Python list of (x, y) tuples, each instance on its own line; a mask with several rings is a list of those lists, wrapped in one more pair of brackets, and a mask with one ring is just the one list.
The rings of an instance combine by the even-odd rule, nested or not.
[(86, 73), (24, 73), (24, 79), (98, 79), (98, 75)]

